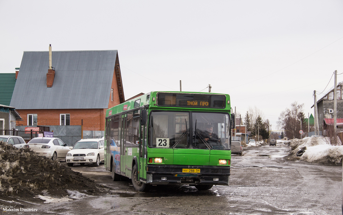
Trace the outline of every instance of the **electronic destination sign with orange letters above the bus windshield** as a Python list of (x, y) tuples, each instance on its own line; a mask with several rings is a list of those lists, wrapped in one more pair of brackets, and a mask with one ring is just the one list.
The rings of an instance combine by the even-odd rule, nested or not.
[(163, 107), (196, 107), (225, 108), (225, 95), (157, 93), (157, 106)]

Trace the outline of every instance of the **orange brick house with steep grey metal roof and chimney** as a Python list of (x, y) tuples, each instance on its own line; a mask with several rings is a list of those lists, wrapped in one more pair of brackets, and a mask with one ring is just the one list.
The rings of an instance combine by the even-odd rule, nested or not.
[[(17, 126), (105, 131), (106, 109), (125, 101), (117, 50), (25, 51), (11, 106), (23, 121)], [(63, 136), (68, 131), (59, 131)], [(79, 132), (80, 133), (80, 132)], [(64, 134), (67, 135), (67, 134)], [(62, 139), (62, 138), (61, 138)], [(78, 140), (62, 139), (64, 142)]]

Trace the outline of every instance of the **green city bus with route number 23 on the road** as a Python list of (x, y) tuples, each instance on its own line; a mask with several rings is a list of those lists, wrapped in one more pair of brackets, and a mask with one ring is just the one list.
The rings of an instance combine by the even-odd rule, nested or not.
[(143, 192), (154, 184), (228, 185), (230, 111), (229, 95), (196, 92), (153, 91), (109, 108), (106, 170)]

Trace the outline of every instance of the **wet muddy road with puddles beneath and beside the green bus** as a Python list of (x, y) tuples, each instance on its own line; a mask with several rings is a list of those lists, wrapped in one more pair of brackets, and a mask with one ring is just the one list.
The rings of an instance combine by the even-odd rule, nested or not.
[(233, 155), (230, 186), (206, 191), (154, 186), (148, 193), (137, 193), (129, 180), (112, 181), (103, 164), (78, 165), (72, 169), (109, 187), (109, 194), (69, 193), (47, 198), (50, 203), (27, 202), (23, 207), (37, 211), (22, 214), (342, 214), (342, 167), (283, 159), (290, 150), (284, 144), (265, 145), (244, 150), (243, 156)]

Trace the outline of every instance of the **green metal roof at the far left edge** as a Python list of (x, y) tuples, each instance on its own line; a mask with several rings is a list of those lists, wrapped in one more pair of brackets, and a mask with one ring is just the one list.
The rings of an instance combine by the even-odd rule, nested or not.
[(10, 105), (15, 86), (15, 73), (0, 74), (0, 104)]

